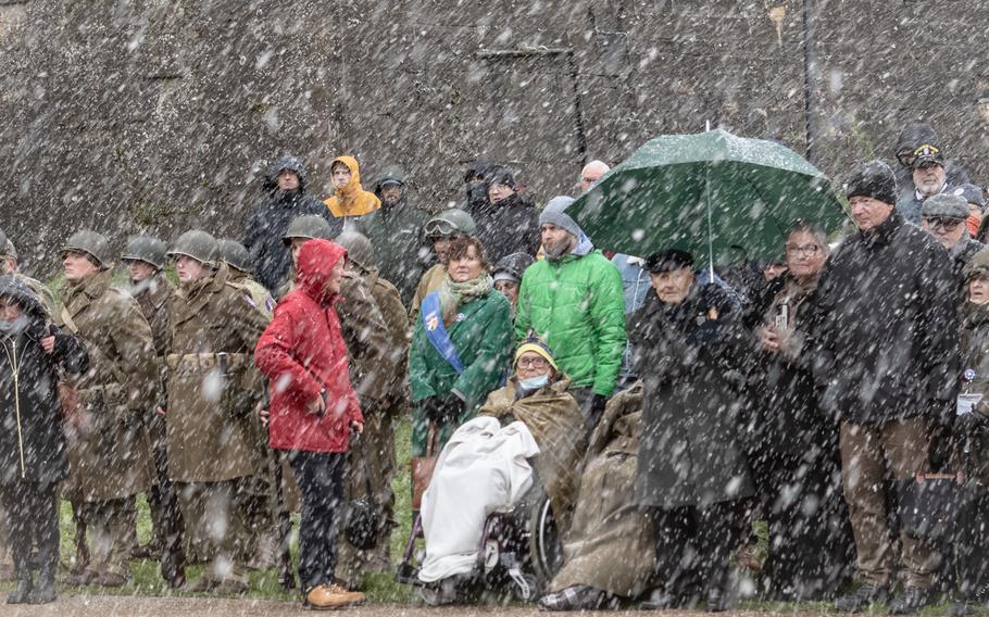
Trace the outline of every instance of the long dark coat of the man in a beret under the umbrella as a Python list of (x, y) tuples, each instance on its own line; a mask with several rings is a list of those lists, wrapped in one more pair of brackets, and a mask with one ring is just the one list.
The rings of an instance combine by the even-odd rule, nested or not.
[(667, 305), (655, 293), (629, 316), (634, 364), (644, 387), (640, 505), (705, 506), (753, 494), (742, 449), (741, 328), (728, 294), (694, 285)]

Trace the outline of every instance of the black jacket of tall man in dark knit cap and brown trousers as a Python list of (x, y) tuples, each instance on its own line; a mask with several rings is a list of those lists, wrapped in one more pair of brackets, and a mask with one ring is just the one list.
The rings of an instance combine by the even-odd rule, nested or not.
[(957, 282), (948, 253), (899, 213), (846, 238), (811, 303), (824, 410), (853, 424), (949, 421), (959, 387)]

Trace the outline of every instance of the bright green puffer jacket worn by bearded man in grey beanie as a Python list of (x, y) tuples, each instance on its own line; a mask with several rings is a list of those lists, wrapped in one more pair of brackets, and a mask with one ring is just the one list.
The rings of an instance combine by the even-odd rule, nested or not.
[(610, 396), (625, 351), (622, 275), (601, 251), (542, 260), (525, 270), (518, 290), (515, 338), (546, 340), (571, 388)]

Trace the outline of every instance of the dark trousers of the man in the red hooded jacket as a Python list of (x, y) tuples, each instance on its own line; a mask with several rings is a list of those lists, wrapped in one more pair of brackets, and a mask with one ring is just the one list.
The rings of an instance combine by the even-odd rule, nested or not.
[(288, 462), (302, 493), (299, 582), (303, 592), (334, 582), (337, 521), (343, 507), (346, 453), (291, 451)]

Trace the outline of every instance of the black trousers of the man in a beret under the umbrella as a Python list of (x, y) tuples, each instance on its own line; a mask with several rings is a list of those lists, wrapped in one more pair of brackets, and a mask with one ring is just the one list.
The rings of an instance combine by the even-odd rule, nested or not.
[(746, 502), (655, 509), (656, 575), (667, 593), (724, 589), (731, 553), (744, 538)]

